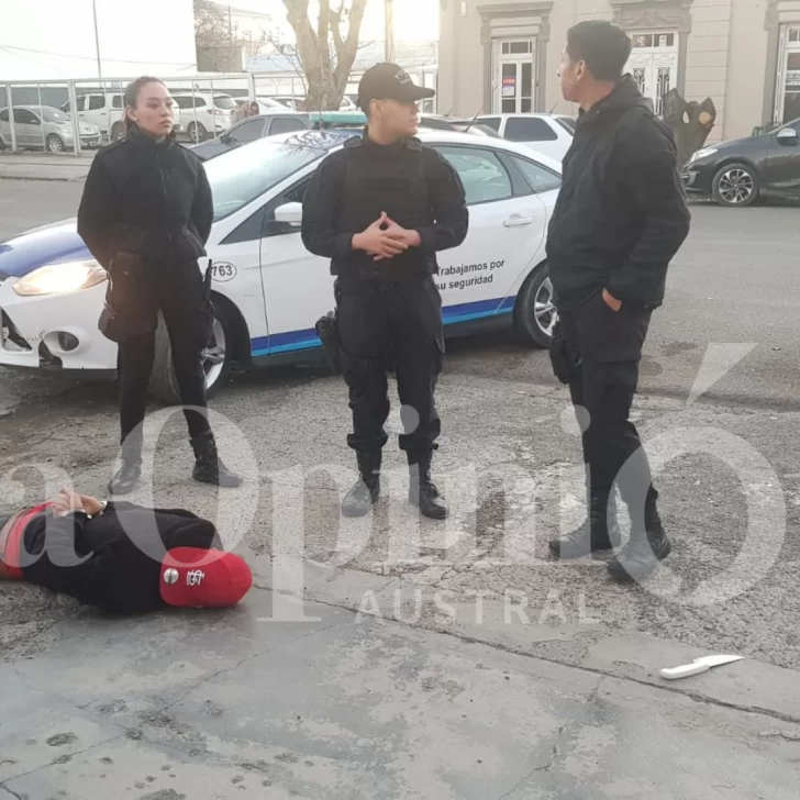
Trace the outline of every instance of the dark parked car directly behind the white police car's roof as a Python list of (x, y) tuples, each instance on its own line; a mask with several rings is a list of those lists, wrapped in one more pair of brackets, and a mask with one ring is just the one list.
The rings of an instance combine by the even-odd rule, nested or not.
[[(209, 158), (227, 153), (234, 147), (241, 147), (243, 144), (255, 142), (265, 136), (291, 133), (292, 131), (363, 127), (366, 124), (367, 118), (358, 111), (287, 111), (286, 113), (262, 114), (242, 120), (242, 122), (232, 125), (221, 136), (193, 145), (190, 149), (207, 162)], [(434, 114), (421, 114), (420, 126), (460, 132), (469, 127), (470, 133), (499, 138), (499, 134), (491, 127), (481, 125), (478, 122), (473, 123), (471, 120), (455, 120)]]

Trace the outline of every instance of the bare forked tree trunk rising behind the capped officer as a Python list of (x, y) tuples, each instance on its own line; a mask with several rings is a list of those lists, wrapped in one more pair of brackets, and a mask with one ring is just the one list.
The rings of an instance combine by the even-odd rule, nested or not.
[[(364, 11), (369, 0), (319, 0), (316, 26), (309, 0), (284, 0), (295, 31), (297, 54), (305, 74), (308, 111), (338, 110), (358, 52)], [(343, 26), (347, 21), (347, 33)]]

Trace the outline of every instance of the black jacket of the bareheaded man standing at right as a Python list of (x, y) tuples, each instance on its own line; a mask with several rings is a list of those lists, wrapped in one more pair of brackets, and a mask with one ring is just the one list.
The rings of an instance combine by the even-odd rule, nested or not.
[(673, 133), (625, 76), (580, 114), (564, 157), (547, 238), (558, 305), (603, 288), (630, 305), (660, 305), (689, 221)]

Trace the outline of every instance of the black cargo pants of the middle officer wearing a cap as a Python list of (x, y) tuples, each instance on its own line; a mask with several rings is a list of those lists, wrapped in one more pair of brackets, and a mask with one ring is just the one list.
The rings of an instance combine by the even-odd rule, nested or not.
[(442, 371), (442, 298), (431, 277), (400, 282), (336, 280), (342, 368), (349, 388), (353, 433), (347, 444), (377, 453), (388, 436), (387, 368), (402, 403), (400, 448), (414, 456), (436, 449), (442, 424), (434, 391)]

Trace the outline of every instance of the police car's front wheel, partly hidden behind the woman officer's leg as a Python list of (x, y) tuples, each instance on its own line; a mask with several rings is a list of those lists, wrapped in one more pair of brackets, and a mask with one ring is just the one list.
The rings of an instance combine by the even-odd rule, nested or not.
[[(233, 326), (225, 309), (214, 302), (214, 347), (203, 351), (203, 368), (205, 369), (205, 396), (212, 397), (220, 387), (227, 382), (233, 365)], [(164, 402), (180, 403), (178, 379), (173, 366), (173, 348), (164, 320), (159, 315), (156, 330), (156, 355), (149, 384), (151, 395)]]

